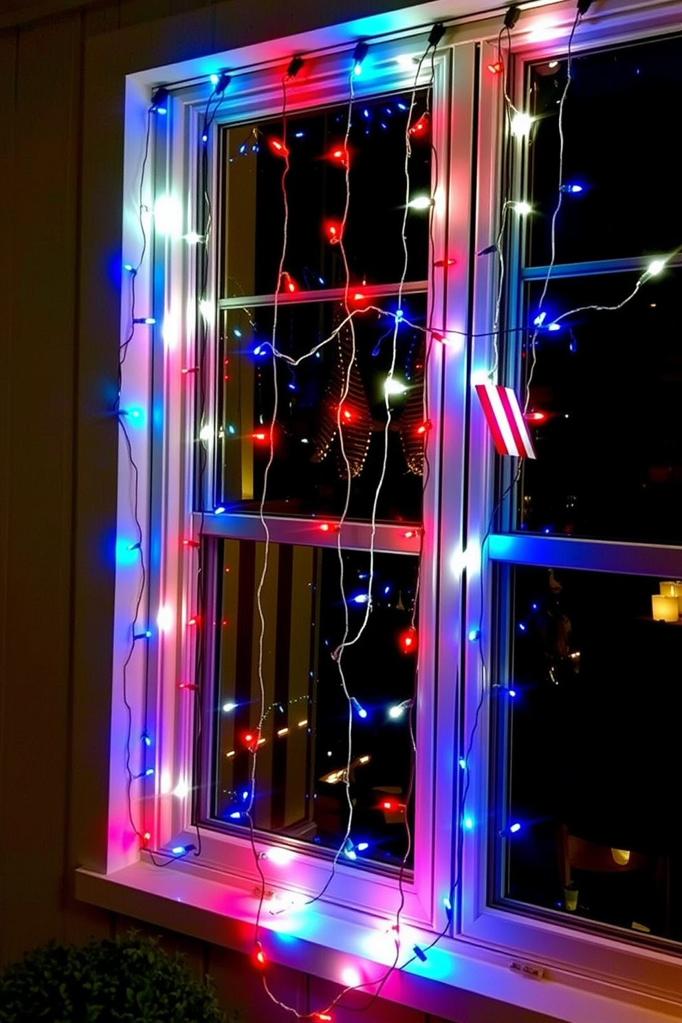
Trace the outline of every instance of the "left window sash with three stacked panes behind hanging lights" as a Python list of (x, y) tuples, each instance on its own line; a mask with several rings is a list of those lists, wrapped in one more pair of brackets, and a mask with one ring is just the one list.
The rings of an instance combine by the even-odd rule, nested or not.
[[(293, 857), (310, 898), (390, 911), (404, 897), (420, 925), (443, 916), (433, 623), (440, 505), (455, 536), (461, 479), (446, 493), (433, 466), (444, 388), (453, 424), (462, 410), (441, 328), (448, 316), (461, 351), (465, 276), (445, 284), (468, 214), (446, 230), (446, 211), (470, 167), (466, 121), (448, 151), (448, 51), (427, 35), (373, 46), (352, 78), (353, 47), (283, 83), (276, 64), (213, 98), (179, 89), (167, 123), (198, 139), (188, 154), (155, 122), (156, 162), (171, 155), (154, 210), (182, 220), (163, 253), (167, 316), (189, 326), (171, 329), (158, 377), (179, 361), (167, 400), (186, 459), (156, 453), (181, 557), (153, 584), (165, 607), (179, 594), (158, 666), (175, 746), (149, 775), (167, 816), (145, 829), (156, 859), (187, 850), (258, 884), (256, 843), (268, 863)], [(470, 93), (470, 48), (457, 66)], [(178, 281), (192, 255), (187, 287), (176, 252)], [(454, 708), (456, 686), (438, 699)], [(447, 892), (447, 856), (439, 873)]]

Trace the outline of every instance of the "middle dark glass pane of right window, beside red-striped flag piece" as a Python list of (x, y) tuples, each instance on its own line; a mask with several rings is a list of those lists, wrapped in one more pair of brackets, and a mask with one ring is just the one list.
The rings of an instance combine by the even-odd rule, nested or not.
[[(616, 305), (636, 274), (550, 283), (546, 324)], [(546, 418), (524, 463), (521, 529), (605, 539), (682, 540), (679, 271), (643, 283), (617, 312), (586, 310), (537, 338), (530, 410)], [(529, 320), (540, 285), (530, 290)], [(532, 353), (524, 352), (530, 367)]]

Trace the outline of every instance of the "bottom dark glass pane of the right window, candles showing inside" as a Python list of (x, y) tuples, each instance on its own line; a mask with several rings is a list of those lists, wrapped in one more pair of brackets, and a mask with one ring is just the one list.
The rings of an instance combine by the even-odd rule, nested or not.
[(513, 575), (503, 894), (681, 941), (682, 622), (657, 578)]

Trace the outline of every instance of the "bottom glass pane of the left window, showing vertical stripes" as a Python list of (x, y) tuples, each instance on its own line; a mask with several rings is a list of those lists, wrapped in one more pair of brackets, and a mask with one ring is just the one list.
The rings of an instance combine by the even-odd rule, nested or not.
[[(261, 596), (265, 714), (259, 733), (257, 590), (265, 548), (237, 540), (221, 545), (215, 815), (247, 826), (240, 814), (258, 746), (255, 827), (335, 850), (349, 817), (349, 702), (335, 657), (345, 632), (337, 551), (270, 545)], [(343, 562), (350, 640), (366, 617), (369, 553), (345, 551)], [(414, 697), (416, 659), (403, 644), (406, 633), (412, 635), (417, 564), (410, 555), (375, 554), (366, 628), (340, 658), (355, 700), (354, 810), (346, 849), (352, 859), (400, 863), (408, 848), (413, 758), (407, 704)]]

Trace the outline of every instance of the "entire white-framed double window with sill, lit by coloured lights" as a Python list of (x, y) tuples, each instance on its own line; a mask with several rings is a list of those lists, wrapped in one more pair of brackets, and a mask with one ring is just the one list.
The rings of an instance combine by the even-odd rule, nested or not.
[[(574, 1021), (678, 1013), (678, 626), (650, 598), (682, 577), (679, 210), (651, 171), (680, 44), (653, 4), (605, 0), (577, 25), (561, 181), (583, 190), (560, 192), (552, 258), (575, 17), (525, 12), (503, 73), (484, 12), (419, 66), (417, 8), (210, 60), (165, 42), (163, 73), (129, 55), (124, 339), (133, 285), (134, 318), (158, 322), (125, 348), (108, 858), (79, 874), (83, 897), (139, 895), (150, 919), (247, 949), (267, 892), (270, 958), (336, 982), (349, 957), (367, 978), (393, 962), (400, 906), (402, 950), (436, 943), (382, 990), (425, 1012), (452, 1015), (459, 989)], [(504, 87), (530, 136), (508, 130)], [(413, 89), (431, 144), (412, 139), (408, 184)], [(655, 178), (646, 215), (624, 214), (634, 178)], [(434, 205), (408, 211), (405, 262), (413, 189)], [(538, 458), (517, 477), (472, 387), (492, 367), (528, 389)], [(407, 390), (389, 417), (392, 379)], [(347, 613), (349, 635), (367, 623), (348, 696)], [(572, 840), (610, 856), (605, 884)], [(305, 914), (279, 913), (292, 896)]]

